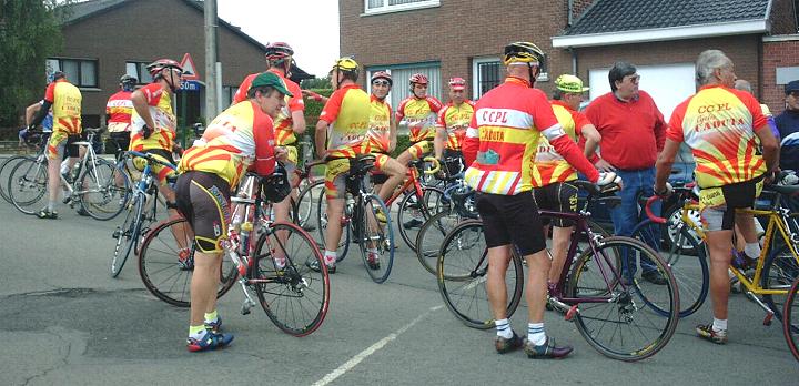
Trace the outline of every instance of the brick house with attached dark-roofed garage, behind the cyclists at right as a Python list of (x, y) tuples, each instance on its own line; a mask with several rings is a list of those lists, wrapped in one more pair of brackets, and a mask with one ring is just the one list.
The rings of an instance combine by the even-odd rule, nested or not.
[[(775, 111), (783, 109), (785, 78), (799, 62), (793, 0), (340, 0), (341, 53), (372, 71), (397, 79), (392, 103), (408, 94), (411, 72), (433, 79), (431, 93), (446, 98), (451, 77), (464, 77), (479, 98), (502, 81), (502, 48), (533, 41), (547, 52), (537, 87), (575, 73), (590, 98), (609, 91), (607, 70), (616, 60), (639, 68), (668, 118), (695, 91), (694, 61), (706, 49), (725, 51), (739, 78)], [(778, 37), (779, 35), (779, 37)], [(786, 69), (787, 68), (787, 69)], [(796, 71), (799, 75), (799, 71)], [(782, 74), (782, 75), (779, 75)], [(799, 79), (793, 77), (792, 79)], [(364, 83), (365, 84), (365, 83)]]

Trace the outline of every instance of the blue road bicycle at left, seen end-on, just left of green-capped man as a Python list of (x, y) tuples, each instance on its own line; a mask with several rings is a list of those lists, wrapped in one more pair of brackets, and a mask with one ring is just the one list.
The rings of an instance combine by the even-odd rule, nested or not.
[(150, 153), (141, 153), (132, 150), (125, 152), (125, 154), (120, 158), (118, 167), (120, 167), (120, 164), (125, 164), (127, 159), (132, 156), (139, 156), (145, 160), (146, 164), (144, 165), (144, 170), (142, 170), (139, 182), (133, 186), (131, 193), (133, 199), (127, 206), (128, 213), (125, 214), (125, 219), (121, 225), (117, 226), (111, 235), (111, 237), (117, 238), (114, 255), (111, 258), (110, 265), (111, 277), (119, 276), (131, 252), (135, 254), (139, 253), (142, 236), (148, 234), (150, 224), (158, 219), (159, 205), (156, 196), (159, 189), (158, 179), (152, 171), (152, 165), (158, 164), (171, 170), (178, 170), (178, 166), (169, 162), (163, 162)]

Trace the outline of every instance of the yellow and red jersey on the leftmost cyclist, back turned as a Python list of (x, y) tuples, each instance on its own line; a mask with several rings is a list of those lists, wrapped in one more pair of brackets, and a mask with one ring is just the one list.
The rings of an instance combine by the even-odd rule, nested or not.
[(59, 79), (48, 85), (44, 100), (52, 104), (53, 132), (62, 131), (73, 135), (81, 133), (83, 95), (77, 87), (65, 79)]

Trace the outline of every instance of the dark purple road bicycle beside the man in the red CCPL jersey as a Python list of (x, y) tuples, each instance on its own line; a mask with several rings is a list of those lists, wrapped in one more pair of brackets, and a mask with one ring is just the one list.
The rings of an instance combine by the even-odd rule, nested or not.
[[(589, 200), (599, 192), (596, 185), (574, 182), (588, 191)], [(599, 197), (618, 203), (618, 197)], [(679, 314), (677, 283), (666, 263), (646, 244), (630, 237), (604, 237), (587, 225), (590, 213), (540, 211), (543, 215), (575, 222), (576, 235), (585, 236), (587, 247), (578, 253), (580, 237), (572, 237), (566, 264), (557, 283), (549, 285), (549, 304), (575, 322), (580, 335), (603, 355), (626, 362), (655, 355), (675, 333)], [(487, 304), (485, 281), (487, 248), (479, 220), (458, 224), (447, 234), (437, 262), (438, 288), (447, 308), (473, 328), (494, 326)], [(522, 256), (513, 248), (509, 264), (507, 317), (518, 307), (524, 286)], [(645, 255), (667, 278), (666, 285), (621, 281), (620, 253)], [(667, 311), (665, 317), (653, 306)], [(609, 327), (608, 327), (609, 326)], [(623, 331), (624, 329), (624, 331)]]

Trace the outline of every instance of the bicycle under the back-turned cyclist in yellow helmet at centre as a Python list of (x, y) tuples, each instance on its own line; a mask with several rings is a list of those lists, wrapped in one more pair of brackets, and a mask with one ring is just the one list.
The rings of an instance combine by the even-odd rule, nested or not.
[[(332, 161), (327, 160), (326, 162)], [(316, 219), (318, 219), (320, 235), (323, 241), (327, 231), (328, 221), (342, 222), (342, 241), (338, 244), (336, 262), (346, 257), (351, 241), (361, 247), (361, 257), (372, 281), (383, 283), (388, 278), (394, 265), (394, 230), (391, 226), (391, 213), (383, 200), (374, 194), (368, 183), (368, 175), (374, 167), (373, 154), (358, 155), (350, 159), (350, 170), (346, 172), (346, 199), (344, 201), (344, 215), (341, 220), (327, 219), (326, 193), (318, 196)], [(385, 216), (385, 221), (380, 216)], [(373, 251), (368, 251), (373, 250)], [(370, 254), (376, 254), (371, 261)]]

